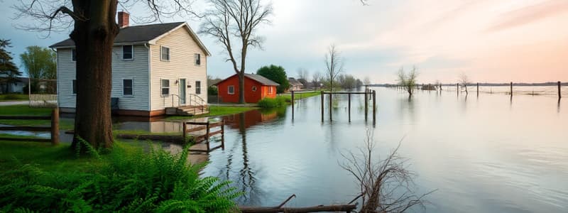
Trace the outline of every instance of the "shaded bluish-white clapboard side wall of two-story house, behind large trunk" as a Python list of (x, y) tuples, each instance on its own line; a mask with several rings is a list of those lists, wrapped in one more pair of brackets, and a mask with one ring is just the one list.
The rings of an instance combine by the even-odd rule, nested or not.
[[(70, 48), (58, 49), (58, 97), (60, 107), (75, 108), (72, 80), (75, 80), (75, 61)], [(133, 95), (122, 95), (122, 80), (133, 80)], [(97, 82), (92, 82), (96, 84)], [(148, 49), (134, 46), (133, 60), (122, 60), (122, 46), (114, 46), (112, 53), (111, 97), (119, 98), (120, 109), (148, 111)]]

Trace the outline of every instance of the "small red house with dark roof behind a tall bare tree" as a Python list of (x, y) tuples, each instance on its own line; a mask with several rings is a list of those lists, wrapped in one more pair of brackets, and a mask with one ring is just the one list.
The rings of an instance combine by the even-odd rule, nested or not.
[[(226, 79), (217, 82), (219, 89), (219, 99), (221, 102), (237, 103), (239, 102), (239, 76), (232, 75)], [(261, 75), (245, 74), (244, 75), (244, 100), (247, 103), (256, 103), (263, 98), (275, 98), (276, 87), (278, 83), (269, 80)]]

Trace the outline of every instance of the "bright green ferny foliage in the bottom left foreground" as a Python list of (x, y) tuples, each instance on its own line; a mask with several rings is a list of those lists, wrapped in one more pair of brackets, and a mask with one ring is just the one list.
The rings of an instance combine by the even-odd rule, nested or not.
[(187, 163), (187, 148), (171, 155), (115, 146), (102, 166), (82, 172), (2, 171), (0, 212), (231, 212), (241, 195), (227, 181), (200, 178), (203, 165)]

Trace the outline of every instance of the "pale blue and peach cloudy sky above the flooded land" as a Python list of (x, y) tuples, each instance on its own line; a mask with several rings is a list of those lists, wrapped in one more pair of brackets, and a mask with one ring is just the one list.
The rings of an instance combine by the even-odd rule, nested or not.
[[(166, 0), (164, 0), (166, 1)], [(207, 9), (197, 0), (196, 10)], [(261, 0), (263, 1), (263, 0)], [(16, 64), (28, 45), (47, 47), (67, 32), (22, 31), (15, 23), (14, 0), (0, 0), (0, 38), (11, 39)], [(568, 0), (273, 0), (271, 23), (257, 34), (262, 49), (251, 49), (246, 72), (263, 65), (323, 73), (324, 55), (334, 44), (344, 58), (344, 73), (373, 83), (393, 83), (400, 68), (416, 67), (418, 82), (568, 82)], [(131, 16), (146, 11), (130, 9)], [(166, 18), (200, 28), (195, 17)], [(131, 21), (131, 25), (136, 21)], [(233, 75), (222, 45), (199, 35), (212, 53), (208, 75)]]

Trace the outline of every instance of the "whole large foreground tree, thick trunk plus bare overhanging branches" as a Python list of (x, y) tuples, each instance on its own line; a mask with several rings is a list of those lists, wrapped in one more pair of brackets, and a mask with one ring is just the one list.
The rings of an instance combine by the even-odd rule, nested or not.
[[(154, 20), (175, 14), (194, 14), (192, 1), (170, 0), (20, 0), (14, 8), (14, 19), (33, 19), (31, 25), (17, 25), (27, 31), (67, 31), (75, 42), (77, 106), (75, 135), (72, 148), (82, 146), (78, 138), (89, 141), (94, 148), (111, 148), (113, 144), (111, 123), (111, 54), (114, 38), (119, 33), (116, 9), (144, 7)], [(151, 21), (151, 20), (148, 20)]]

